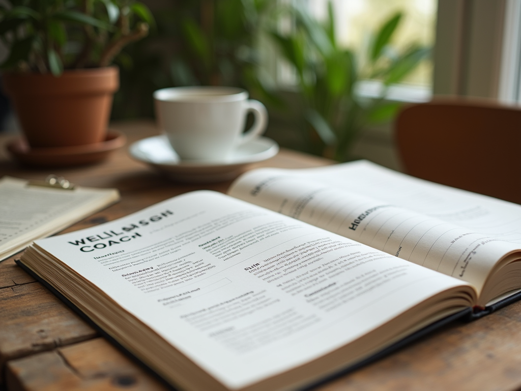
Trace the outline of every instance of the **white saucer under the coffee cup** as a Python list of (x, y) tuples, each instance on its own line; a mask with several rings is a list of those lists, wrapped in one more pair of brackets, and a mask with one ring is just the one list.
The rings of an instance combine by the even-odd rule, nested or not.
[(247, 164), (262, 162), (279, 152), (279, 145), (258, 137), (238, 146), (226, 162), (182, 161), (166, 136), (148, 137), (130, 145), (130, 155), (183, 182), (220, 182), (240, 174)]

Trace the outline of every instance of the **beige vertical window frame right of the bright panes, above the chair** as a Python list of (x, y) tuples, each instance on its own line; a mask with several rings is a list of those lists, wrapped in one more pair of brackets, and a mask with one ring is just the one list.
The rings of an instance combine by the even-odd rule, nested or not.
[(497, 99), (504, 91), (509, 1), (519, 0), (438, 0), (434, 95)]

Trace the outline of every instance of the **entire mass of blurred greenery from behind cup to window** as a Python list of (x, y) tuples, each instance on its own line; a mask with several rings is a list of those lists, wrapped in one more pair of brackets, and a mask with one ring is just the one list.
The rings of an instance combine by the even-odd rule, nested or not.
[[(331, 3), (324, 21), (309, 15), (302, 2), (291, 4), (178, 0), (155, 10), (156, 30), (119, 56), (121, 89), (113, 118), (152, 117), (152, 93), (160, 88), (232, 85), (293, 118), (293, 129), (304, 142), (284, 146), (350, 160), (361, 130), (389, 121), (398, 110), (398, 103), (384, 99), (388, 87), (428, 57), (429, 48), (414, 42), (405, 50), (393, 46), (403, 19), (396, 13), (374, 32), (364, 51), (355, 52), (337, 42)], [(294, 69), (293, 93), (272, 91), (267, 87), (272, 84), (259, 76), (261, 56), (275, 48)], [(366, 79), (381, 81), (376, 99), (356, 93)]]

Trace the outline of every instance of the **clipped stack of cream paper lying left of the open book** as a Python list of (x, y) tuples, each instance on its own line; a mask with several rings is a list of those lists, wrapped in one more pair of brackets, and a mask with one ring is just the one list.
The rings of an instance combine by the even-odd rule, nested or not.
[(0, 179), (0, 260), (119, 199), (115, 189), (75, 190), (28, 186), (18, 178)]

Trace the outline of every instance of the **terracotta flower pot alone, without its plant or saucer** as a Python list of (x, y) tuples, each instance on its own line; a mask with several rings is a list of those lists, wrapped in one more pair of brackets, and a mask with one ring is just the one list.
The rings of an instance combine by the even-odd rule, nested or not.
[(51, 74), (7, 73), (4, 89), (31, 148), (54, 148), (105, 141), (117, 67)]

